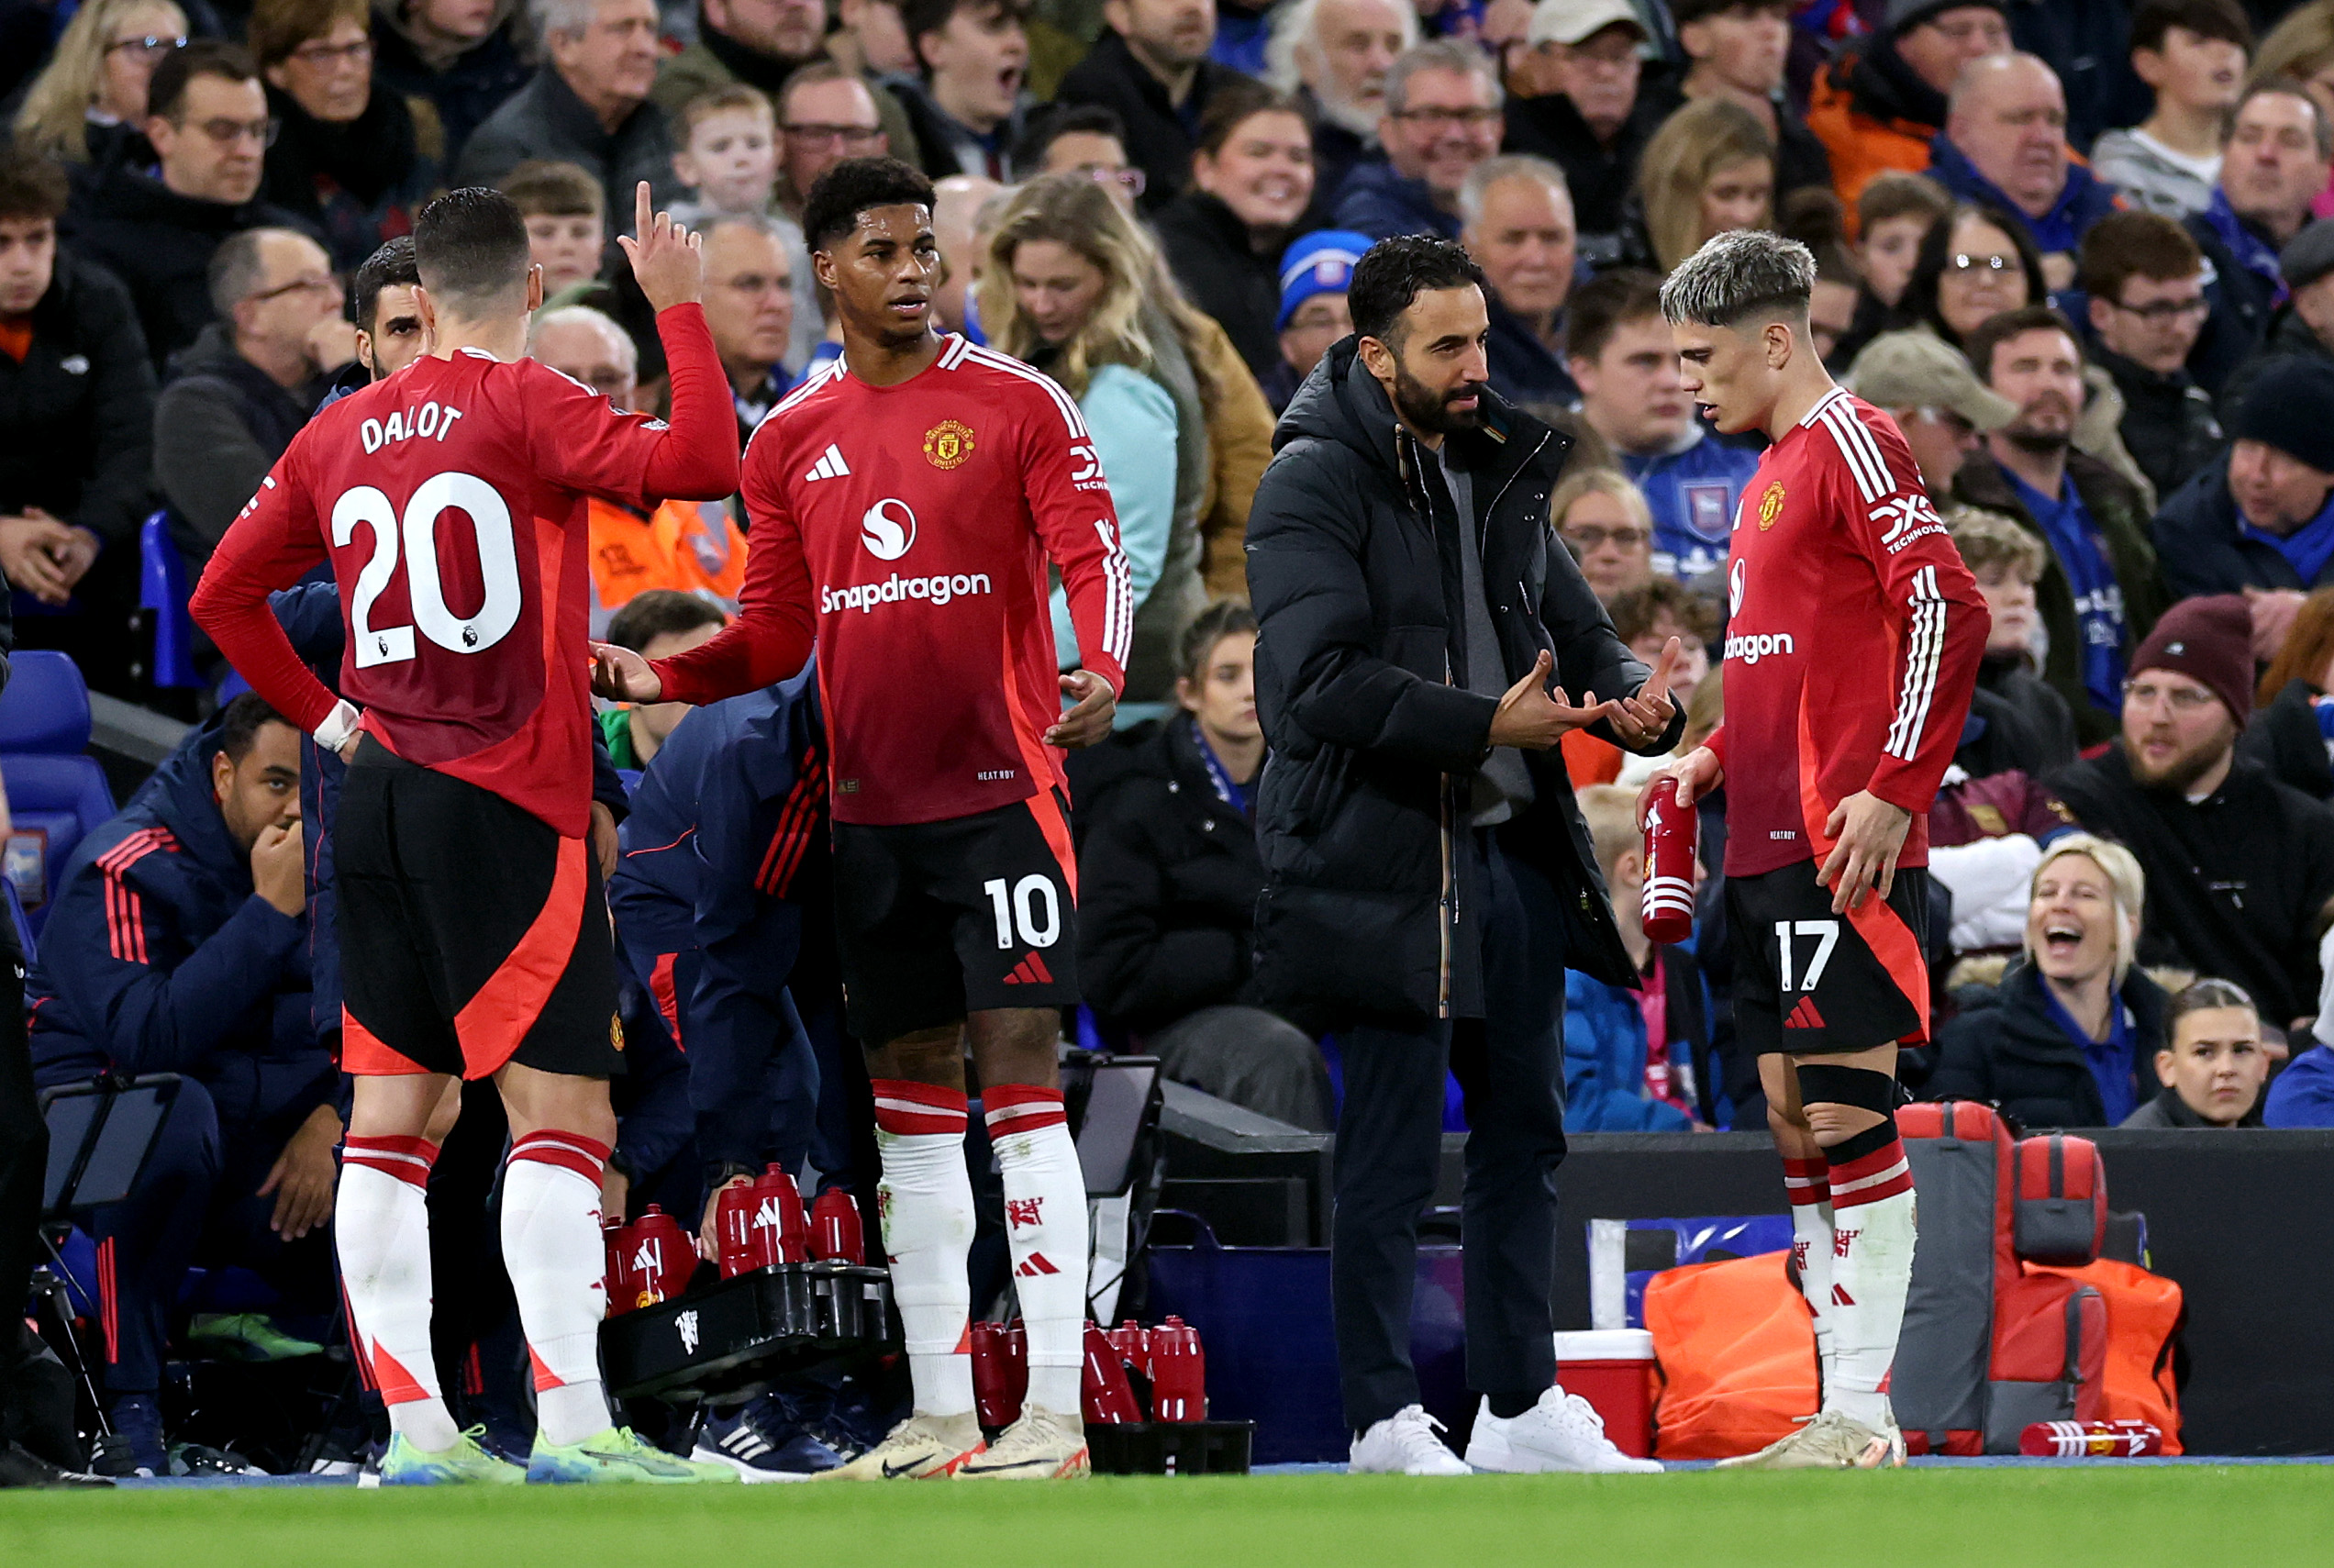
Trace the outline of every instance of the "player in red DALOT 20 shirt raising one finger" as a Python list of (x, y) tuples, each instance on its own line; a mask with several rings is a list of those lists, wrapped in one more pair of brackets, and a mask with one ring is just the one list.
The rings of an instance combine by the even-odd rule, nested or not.
[[(600, 1386), (621, 1034), (586, 845), (586, 504), (738, 483), (698, 240), (649, 212), (647, 184), (637, 233), (623, 245), (658, 308), (670, 429), (523, 357), (544, 296), (527, 226), (497, 191), (450, 191), (413, 231), (429, 355), (292, 439), (194, 593), (252, 688), (350, 761), (334, 826), (341, 1064), (357, 1090), (334, 1232), (357, 1351), (390, 1405), (387, 1484), (735, 1479), (612, 1426)], [(327, 558), (348, 700), (268, 611), (268, 590)], [(455, 1076), (492, 1076), (511, 1118), (502, 1253), (537, 1388), (525, 1470), (455, 1430), (429, 1353), (429, 1132)]]

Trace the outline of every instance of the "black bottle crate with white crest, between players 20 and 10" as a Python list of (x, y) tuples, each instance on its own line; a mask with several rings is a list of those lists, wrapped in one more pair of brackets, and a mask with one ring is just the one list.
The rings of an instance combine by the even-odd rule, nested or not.
[(789, 1372), (882, 1349), (892, 1276), (850, 1262), (782, 1262), (600, 1323), (607, 1386), (623, 1400), (742, 1395)]

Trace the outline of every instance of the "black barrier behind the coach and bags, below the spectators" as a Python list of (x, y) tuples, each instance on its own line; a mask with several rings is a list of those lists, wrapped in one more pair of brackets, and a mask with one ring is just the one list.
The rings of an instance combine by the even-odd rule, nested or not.
[[(1174, 1111), (1174, 1106), (1169, 1106)], [(1169, 1188), (1232, 1227), (1328, 1204), (1328, 1139), (1225, 1136), (1169, 1115)], [(2033, 1132), (2033, 1129), (2031, 1129)], [(2108, 1204), (2147, 1216), (2157, 1274), (2187, 1297), (2180, 1414), (2192, 1454), (2334, 1454), (2334, 1132), (2084, 1129), (2108, 1169)], [(1442, 1146), (1435, 1204), (1459, 1202), (1463, 1136)], [(1253, 1176), (1251, 1176), (1253, 1171)], [(1312, 1204), (1279, 1188), (1302, 1181)], [(1209, 1190), (1214, 1188), (1214, 1190)], [(1783, 1213), (1774, 1146), (1755, 1132), (1571, 1139), (1557, 1174), (1557, 1328), (1589, 1325), (1589, 1220)], [(1237, 1195), (1237, 1199), (1235, 1199)], [(1214, 1216), (1207, 1216), (1214, 1220)]]

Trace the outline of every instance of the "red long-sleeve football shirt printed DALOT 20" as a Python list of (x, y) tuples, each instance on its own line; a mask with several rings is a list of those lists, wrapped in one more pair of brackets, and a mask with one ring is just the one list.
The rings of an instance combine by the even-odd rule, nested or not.
[(315, 730), (334, 695), (268, 611), (331, 558), (341, 691), (390, 751), (591, 826), (588, 497), (738, 488), (738, 415), (705, 310), (658, 313), (672, 425), (534, 359), (422, 357), (301, 429), (226, 530), (194, 618), (268, 705)]

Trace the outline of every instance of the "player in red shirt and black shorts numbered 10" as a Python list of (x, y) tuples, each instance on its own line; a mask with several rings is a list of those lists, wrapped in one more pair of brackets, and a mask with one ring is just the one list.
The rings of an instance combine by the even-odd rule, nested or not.
[[(1078, 1001), (1062, 749), (1109, 733), (1125, 684), (1134, 597), (1118, 513), (1069, 394), (934, 329), (924, 175), (838, 163), (810, 189), (803, 233), (843, 357), (747, 446), (740, 618), (654, 663), (602, 649), (600, 691), (752, 691), (794, 674), (817, 625), (836, 938), (875, 1080), (885, 1251), (915, 1381), (913, 1414), (822, 1479), (1085, 1475), (1085, 1181), (1055, 1071), (1062, 1008)], [(1085, 660), (1071, 674), (1055, 665), (1048, 560)], [(1029, 1398), (992, 1449), (969, 1356), (962, 1036), (1029, 1330)]]

